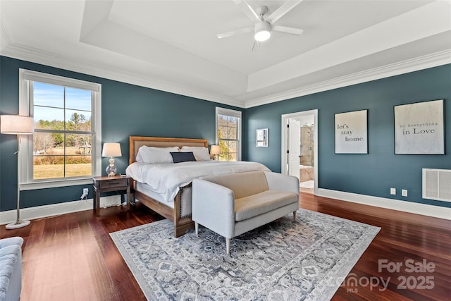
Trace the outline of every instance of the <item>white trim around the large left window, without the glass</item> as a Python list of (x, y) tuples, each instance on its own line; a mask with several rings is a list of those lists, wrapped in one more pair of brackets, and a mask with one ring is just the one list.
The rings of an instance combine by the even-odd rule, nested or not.
[[(54, 85), (64, 85), (84, 90), (94, 91), (94, 135), (92, 137), (92, 176), (101, 173), (101, 85), (84, 80), (64, 78), (32, 70), (19, 69), (19, 114), (30, 116), (30, 81), (47, 82)], [(73, 185), (92, 184), (92, 176), (80, 178), (61, 178), (51, 180), (33, 180), (33, 139), (32, 135), (22, 135), (20, 144), (20, 190), (55, 188)]]

